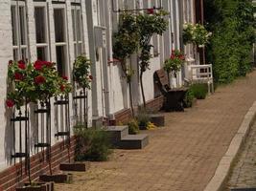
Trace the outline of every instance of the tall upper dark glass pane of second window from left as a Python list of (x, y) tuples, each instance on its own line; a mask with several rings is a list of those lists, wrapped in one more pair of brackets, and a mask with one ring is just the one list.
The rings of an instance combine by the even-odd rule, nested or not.
[(46, 43), (45, 8), (35, 8), (36, 43)]

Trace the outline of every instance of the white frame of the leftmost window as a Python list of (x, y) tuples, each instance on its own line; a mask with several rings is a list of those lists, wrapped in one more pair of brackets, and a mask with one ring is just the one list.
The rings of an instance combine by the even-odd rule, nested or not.
[[(24, 1), (11, 1), (11, 11), (12, 11), (12, 7), (15, 7), (15, 18), (14, 18), (14, 25), (16, 28), (15, 31), (15, 36), (16, 36), (16, 45), (12, 44), (12, 53), (14, 51), (17, 51), (17, 58), (15, 59), (14, 57), (14, 53), (12, 55), (13, 60), (26, 60), (29, 59), (29, 45), (28, 45), (28, 19), (27, 19), (27, 8), (26, 8), (26, 3)], [(20, 11), (19, 8), (23, 7), (24, 9), (24, 13), (25, 13), (25, 17), (23, 18), (23, 22), (24, 22), (24, 41), (25, 41), (25, 45), (21, 44), (21, 29), (20, 29)], [(13, 39), (12, 39), (13, 40)], [(22, 57), (22, 50), (26, 50), (26, 56), (27, 57)]]

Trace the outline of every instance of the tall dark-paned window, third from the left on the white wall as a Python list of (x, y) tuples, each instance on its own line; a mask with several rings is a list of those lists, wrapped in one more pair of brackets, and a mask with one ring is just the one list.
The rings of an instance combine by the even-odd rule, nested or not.
[(66, 17), (65, 9), (54, 8), (55, 38), (56, 38), (56, 61), (58, 73), (66, 74), (67, 66), (67, 38), (66, 38)]

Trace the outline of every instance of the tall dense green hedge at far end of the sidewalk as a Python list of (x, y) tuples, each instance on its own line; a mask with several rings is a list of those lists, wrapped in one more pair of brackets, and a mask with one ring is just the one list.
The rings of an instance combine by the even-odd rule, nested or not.
[(205, 23), (213, 32), (207, 62), (213, 63), (215, 81), (232, 82), (251, 71), (255, 18), (251, 0), (205, 0)]

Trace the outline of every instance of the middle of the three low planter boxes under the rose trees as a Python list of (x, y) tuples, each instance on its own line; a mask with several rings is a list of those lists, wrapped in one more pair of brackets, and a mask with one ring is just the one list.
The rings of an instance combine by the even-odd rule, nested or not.
[(55, 183), (67, 183), (72, 181), (72, 174), (40, 175), (40, 181), (54, 181)]

